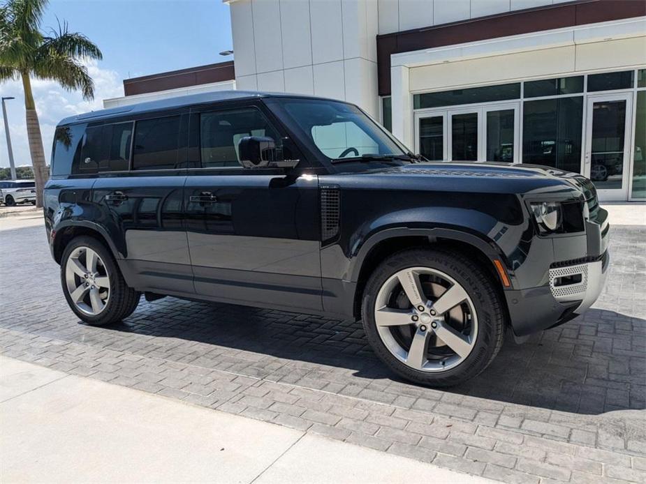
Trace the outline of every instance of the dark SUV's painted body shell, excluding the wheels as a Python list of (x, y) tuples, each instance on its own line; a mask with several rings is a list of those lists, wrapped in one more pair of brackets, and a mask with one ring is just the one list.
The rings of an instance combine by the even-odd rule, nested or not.
[[(572, 319), (599, 296), (608, 273), (608, 213), (589, 180), (507, 163), (330, 161), (285, 114), (286, 100), (309, 99), (208, 93), (61, 121), (44, 197), (54, 259), (61, 262), (75, 237), (94, 236), (126, 284), (149, 299), (361, 319), (367, 282), (384, 259), (412, 248), (446, 249), (492, 280), (518, 340)], [(198, 116), (240, 109), (262, 113), (274, 136), (286, 140), (284, 158), (298, 165), (200, 162)], [(173, 167), (133, 169), (130, 156), (125, 169), (74, 174), (57, 161), (61, 138), (66, 144), (87, 127), (108, 124), (135, 123), (136, 130), (151, 116), (177, 116), (182, 139)], [(138, 142), (127, 142), (136, 151)], [(201, 149), (203, 159), (214, 153)], [(541, 233), (532, 212), (541, 203), (561, 206), (559, 233)]]

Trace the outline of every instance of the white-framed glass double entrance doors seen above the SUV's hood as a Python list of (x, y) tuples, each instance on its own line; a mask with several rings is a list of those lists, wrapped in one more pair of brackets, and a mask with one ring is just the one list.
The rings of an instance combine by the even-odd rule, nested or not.
[(519, 162), (520, 105), (505, 103), (415, 113), (415, 149), (432, 161)]

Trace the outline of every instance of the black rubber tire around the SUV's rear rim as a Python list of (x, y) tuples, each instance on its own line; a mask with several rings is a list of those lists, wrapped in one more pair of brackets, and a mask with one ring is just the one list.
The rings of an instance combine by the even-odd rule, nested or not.
[[(71, 253), (79, 247), (87, 247), (94, 250), (101, 257), (105, 271), (110, 278), (110, 298), (108, 298), (108, 303), (105, 305), (105, 308), (96, 316), (87, 315), (80, 311), (72, 301), (68, 292), (66, 264)], [(124, 317), (131, 315), (139, 303), (140, 293), (126, 285), (119, 266), (117, 266), (115, 258), (112, 257), (112, 252), (101, 241), (91, 236), (76, 237), (66, 245), (63, 256), (61, 257), (61, 285), (63, 287), (63, 294), (71, 310), (83, 322), (91, 326), (105, 326), (106, 324), (121, 321)]]

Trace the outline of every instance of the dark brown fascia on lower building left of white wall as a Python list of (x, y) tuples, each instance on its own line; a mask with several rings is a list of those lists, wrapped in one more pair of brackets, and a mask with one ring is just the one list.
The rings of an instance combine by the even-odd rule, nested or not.
[(179, 87), (199, 86), (211, 82), (235, 79), (233, 61), (209, 64), (188, 69), (171, 70), (168, 73), (146, 75), (124, 79), (126, 96), (177, 89)]

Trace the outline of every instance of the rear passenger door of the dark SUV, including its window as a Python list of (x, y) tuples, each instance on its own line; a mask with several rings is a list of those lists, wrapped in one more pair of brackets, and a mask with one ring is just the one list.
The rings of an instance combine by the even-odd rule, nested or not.
[(168, 112), (86, 131), (80, 169), (98, 173), (94, 202), (138, 289), (194, 293), (183, 220), (187, 128), (186, 112)]

